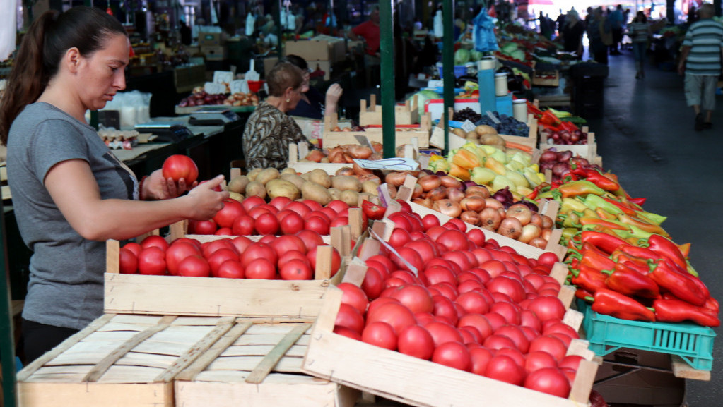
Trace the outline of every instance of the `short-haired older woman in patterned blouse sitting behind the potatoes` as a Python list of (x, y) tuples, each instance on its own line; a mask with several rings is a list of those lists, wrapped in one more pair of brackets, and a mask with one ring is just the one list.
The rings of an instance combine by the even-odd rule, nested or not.
[(275, 167), (288, 162), (288, 144), (307, 141), (293, 118), (286, 115), (301, 99), (304, 73), (298, 67), (276, 64), (266, 78), (269, 97), (254, 110), (241, 139), (247, 170)]

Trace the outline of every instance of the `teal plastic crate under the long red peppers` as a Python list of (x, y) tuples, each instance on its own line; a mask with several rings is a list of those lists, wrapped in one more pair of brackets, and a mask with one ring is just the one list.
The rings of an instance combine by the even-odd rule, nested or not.
[(700, 370), (713, 367), (713, 341), (716, 333), (709, 327), (694, 323), (649, 323), (621, 320), (594, 312), (586, 302), (578, 300), (584, 313), (583, 328), (590, 350), (604, 356), (620, 348), (642, 349), (680, 356)]

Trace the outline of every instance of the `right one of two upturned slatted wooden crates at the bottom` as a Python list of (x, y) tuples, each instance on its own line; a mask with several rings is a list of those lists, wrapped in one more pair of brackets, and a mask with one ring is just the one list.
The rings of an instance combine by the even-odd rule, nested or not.
[(237, 320), (176, 376), (176, 406), (354, 406), (358, 390), (303, 374), (309, 328)]

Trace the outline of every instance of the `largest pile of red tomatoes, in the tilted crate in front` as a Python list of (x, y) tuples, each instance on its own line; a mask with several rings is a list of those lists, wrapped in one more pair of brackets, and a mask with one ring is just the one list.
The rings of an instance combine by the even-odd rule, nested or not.
[(578, 333), (549, 276), (557, 257), (525, 258), (459, 219), (392, 218), (393, 251), (366, 260), (361, 287), (339, 285), (335, 333), (568, 397), (582, 358), (566, 356)]

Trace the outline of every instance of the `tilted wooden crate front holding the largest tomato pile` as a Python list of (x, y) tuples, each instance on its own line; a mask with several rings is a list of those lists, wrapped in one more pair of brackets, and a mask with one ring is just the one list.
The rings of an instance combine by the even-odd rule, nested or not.
[(442, 406), (589, 406), (597, 370), (585, 341), (570, 344), (568, 354), (583, 360), (569, 398), (540, 393), (389, 351), (333, 333), (341, 290), (330, 288), (314, 325), (304, 372), (351, 388), (419, 407)]

